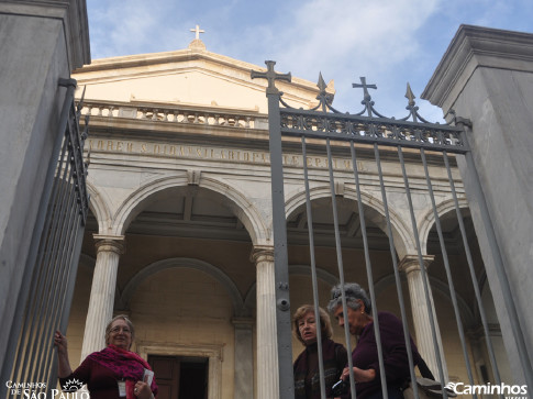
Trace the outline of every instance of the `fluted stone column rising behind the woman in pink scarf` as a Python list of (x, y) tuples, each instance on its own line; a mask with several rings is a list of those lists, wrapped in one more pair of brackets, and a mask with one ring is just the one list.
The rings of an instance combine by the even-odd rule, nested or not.
[(92, 276), (89, 310), (85, 323), (81, 361), (106, 346), (106, 325), (113, 317), (119, 258), (124, 252), (124, 236), (95, 234), (97, 264)]

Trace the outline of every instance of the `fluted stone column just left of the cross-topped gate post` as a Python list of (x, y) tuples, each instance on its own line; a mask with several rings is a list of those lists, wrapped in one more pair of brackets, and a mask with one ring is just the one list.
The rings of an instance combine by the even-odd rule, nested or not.
[(257, 398), (271, 399), (279, 396), (274, 247), (256, 246), (252, 259), (257, 269)]

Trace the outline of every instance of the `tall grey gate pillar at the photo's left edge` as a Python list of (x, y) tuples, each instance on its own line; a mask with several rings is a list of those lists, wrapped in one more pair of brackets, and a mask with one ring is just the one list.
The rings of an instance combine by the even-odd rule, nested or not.
[[(86, 1), (0, 1), (0, 366), (32, 280), (32, 235), (43, 226), (46, 171), (64, 132), (60, 78), (90, 63)], [(15, 329), (15, 330), (12, 330)], [(13, 339), (13, 337), (11, 337)], [(14, 341), (16, 342), (16, 340)], [(7, 363), (4, 363), (7, 362)], [(5, 368), (4, 368), (5, 367)]]

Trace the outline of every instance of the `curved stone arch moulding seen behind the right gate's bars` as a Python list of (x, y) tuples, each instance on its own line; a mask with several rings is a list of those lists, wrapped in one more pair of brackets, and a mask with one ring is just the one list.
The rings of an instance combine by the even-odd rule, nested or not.
[[(331, 188), (329, 185), (311, 187), (309, 191), (311, 201), (319, 198), (331, 197)], [(348, 198), (357, 202), (357, 191), (355, 188), (345, 186), (343, 196), (344, 198)], [(363, 204), (370, 210), (371, 221), (387, 234), (387, 221), (385, 219), (384, 202), (368, 192), (360, 192), (360, 199)], [(298, 190), (298, 192), (292, 193), (292, 196), (286, 201), (286, 214), (290, 215), (296, 209), (298, 209), (298, 207), (304, 203), (306, 191), (303, 189)], [(390, 206), (389, 217), (396, 251), (401, 259), (406, 254), (413, 253), (415, 251), (414, 248), (417, 246), (413, 240), (413, 234), (411, 230), (407, 228), (401, 217), (395, 212)]]

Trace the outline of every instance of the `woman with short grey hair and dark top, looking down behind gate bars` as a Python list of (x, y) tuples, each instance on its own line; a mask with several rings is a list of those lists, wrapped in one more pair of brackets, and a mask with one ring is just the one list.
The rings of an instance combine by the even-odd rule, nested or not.
[[(347, 307), (346, 320), (344, 320), (342, 304), (343, 291)], [(344, 326), (347, 323), (349, 333), (357, 340), (357, 345), (352, 352), (354, 378), (357, 383), (357, 399), (382, 398), (379, 357), (374, 333), (374, 317), (368, 295), (356, 282), (347, 282), (344, 287), (336, 285), (331, 290), (331, 301), (327, 304), (327, 310), (333, 313), (338, 325)], [(402, 399), (402, 388), (410, 379), (402, 323), (389, 312), (378, 312), (378, 322), (388, 397), (389, 399)], [(418, 365), (421, 357), (412, 339), (411, 351), (413, 363)], [(341, 379), (344, 381), (349, 379), (348, 367), (344, 368)]]

